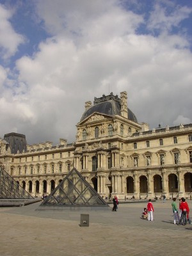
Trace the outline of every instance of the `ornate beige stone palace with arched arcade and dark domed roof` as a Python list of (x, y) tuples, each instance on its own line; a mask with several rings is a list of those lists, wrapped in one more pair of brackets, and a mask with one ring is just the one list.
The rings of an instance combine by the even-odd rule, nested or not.
[(76, 168), (102, 198), (166, 198), (192, 193), (192, 124), (138, 123), (127, 92), (85, 102), (76, 141), (28, 145), (26, 136), (0, 138), (0, 166), (33, 196), (49, 194)]

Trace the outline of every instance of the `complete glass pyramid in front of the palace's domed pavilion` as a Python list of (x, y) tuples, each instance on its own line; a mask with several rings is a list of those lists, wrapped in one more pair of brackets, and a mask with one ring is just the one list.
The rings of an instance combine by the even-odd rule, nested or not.
[(68, 173), (41, 205), (108, 206), (76, 168)]

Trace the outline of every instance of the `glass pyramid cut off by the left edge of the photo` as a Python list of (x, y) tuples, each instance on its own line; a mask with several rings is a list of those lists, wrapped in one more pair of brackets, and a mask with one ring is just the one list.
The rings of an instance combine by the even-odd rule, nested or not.
[(0, 199), (34, 199), (3, 168), (0, 168)]

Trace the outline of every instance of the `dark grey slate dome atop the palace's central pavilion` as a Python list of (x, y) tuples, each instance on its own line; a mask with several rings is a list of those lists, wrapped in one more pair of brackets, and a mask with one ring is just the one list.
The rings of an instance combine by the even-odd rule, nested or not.
[[(100, 113), (109, 116), (122, 116), (121, 100), (118, 98), (117, 95), (114, 96), (113, 93), (108, 96), (103, 95), (101, 98), (98, 99), (95, 98), (93, 106), (90, 106), (84, 111), (83, 115), (81, 116), (80, 122), (88, 118), (88, 116), (92, 115), (93, 113)], [(133, 122), (138, 123), (136, 116), (129, 108), (127, 108), (127, 118)]]

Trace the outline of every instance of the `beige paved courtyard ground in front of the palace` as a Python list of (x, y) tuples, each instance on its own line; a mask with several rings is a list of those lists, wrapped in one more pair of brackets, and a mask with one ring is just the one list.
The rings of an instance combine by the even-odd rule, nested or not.
[[(154, 221), (140, 218), (143, 202), (119, 204), (117, 212), (1, 207), (0, 256), (189, 256), (192, 225), (173, 224), (171, 203), (154, 202)], [(90, 214), (90, 227), (79, 226), (81, 213)]]

